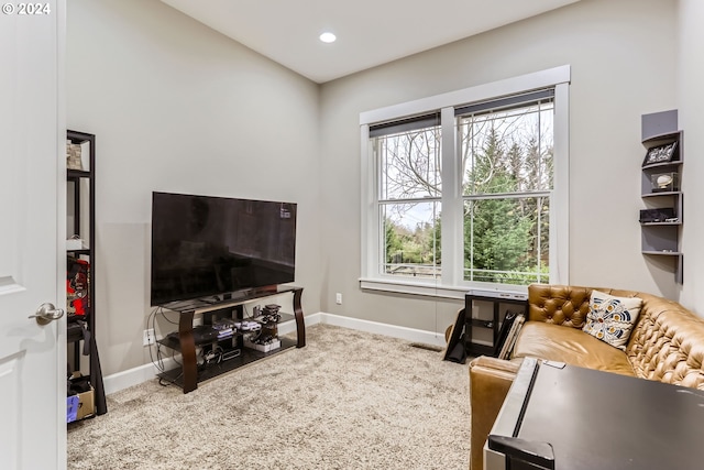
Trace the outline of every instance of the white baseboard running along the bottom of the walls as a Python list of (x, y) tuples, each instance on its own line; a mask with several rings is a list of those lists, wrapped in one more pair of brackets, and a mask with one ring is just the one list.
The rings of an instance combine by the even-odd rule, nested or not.
[[(414, 328), (399, 327), (396, 325), (380, 324), (377, 321), (326, 314), (324, 311), (306, 316), (307, 327), (318, 324), (332, 325), (376, 335), (384, 335), (392, 338), (400, 338), (407, 341), (419, 342), (424, 345), (432, 345), (438, 347), (446, 346), (444, 332), (432, 332)], [(294, 320), (282, 323), (278, 326), (278, 332), (280, 335), (287, 335), (295, 331), (296, 323)], [(177, 367), (176, 362), (173, 359), (165, 359), (163, 363), (166, 370), (170, 370)], [(103, 378), (103, 387), (106, 391), (106, 395), (110, 395), (111, 393), (116, 393), (130, 386), (139, 385), (142, 382), (150, 381), (154, 379), (158, 372), (160, 371), (156, 369), (156, 367), (150, 363), (107, 375)]]

